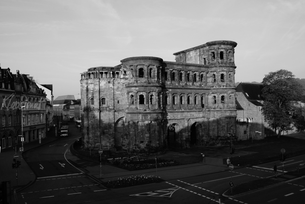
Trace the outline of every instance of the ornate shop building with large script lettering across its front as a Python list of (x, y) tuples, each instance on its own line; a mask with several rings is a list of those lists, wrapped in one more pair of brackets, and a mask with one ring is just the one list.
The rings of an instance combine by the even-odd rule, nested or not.
[(29, 75), (0, 67), (0, 146), (2, 149), (46, 136), (46, 94)]

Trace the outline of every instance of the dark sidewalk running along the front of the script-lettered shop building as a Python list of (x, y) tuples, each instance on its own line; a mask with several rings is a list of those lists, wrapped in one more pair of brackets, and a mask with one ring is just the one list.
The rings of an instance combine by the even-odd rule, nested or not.
[[(38, 146), (52, 142), (58, 138), (59, 137), (55, 136), (55, 128), (53, 128), (52, 131), (47, 132), (46, 138), (41, 139), (41, 143), (39, 143), (38, 139), (33, 142), (23, 143), (23, 153), (30, 149), (34, 149)], [(15, 147), (1, 149), (0, 153), (0, 182), (11, 181), (12, 190), (13, 188), (15, 188), (17, 192), (22, 190), (23, 188), (26, 188), (28, 185), (30, 185), (36, 180), (35, 174), (32, 172), (27, 163), (21, 158), (21, 152), (19, 151), (19, 147), (21, 146), (17, 146), (17, 154), (19, 155), (19, 158), (17, 160), (21, 161), (21, 165), (17, 169), (12, 168), (13, 157), (14, 154), (16, 154)], [(16, 170), (18, 180), (16, 180)], [(7, 183), (7, 186), (9, 187), (9, 183)]]

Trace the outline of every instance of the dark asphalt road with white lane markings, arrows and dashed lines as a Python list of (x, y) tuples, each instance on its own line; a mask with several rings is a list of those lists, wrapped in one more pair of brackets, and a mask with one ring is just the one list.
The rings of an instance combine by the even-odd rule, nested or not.
[[(71, 134), (72, 135), (72, 134)], [(170, 181), (107, 190), (88, 177), (86, 164), (75, 168), (67, 160), (67, 149), (79, 136), (60, 138), (48, 145), (27, 151), (23, 156), (37, 176), (33, 185), (18, 193), (18, 203), (303, 203), (304, 179), (281, 184), (257, 193), (229, 199), (222, 193), (234, 185), (258, 178), (272, 176), (274, 163), (253, 167), (236, 168), (192, 177), (181, 177)], [(69, 155), (71, 157), (71, 155)], [(291, 171), (297, 164), (303, 164), (304, 156), (285, 161), (285, 171)], [(282, 163), (276, 162), (278, 170)], [(88, 162), (90, 164), (90, 162)], [(86, 173), (86, 172), (85, 172)], [(281, 172), (278, 172), (279, 174)], [(216, 202), (217, 201), (217, 202)]]

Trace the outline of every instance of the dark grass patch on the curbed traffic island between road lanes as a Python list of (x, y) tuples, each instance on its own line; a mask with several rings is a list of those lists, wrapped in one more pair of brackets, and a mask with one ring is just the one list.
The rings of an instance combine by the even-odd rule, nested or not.
[(232, 187), (232, 192), (231, 192), (231, 188), (228, 189), (226, 192), (224, 192), (224, 195), (227, 196), (234, 196), (234, 195), (238, 195), (241, 193), (246, 193), (249, 191), (253, 191), (259, 188), (264, 188), (270, 185), (274, 185), (277, 183), (280, 183), (281, 181), (272, 179), (272, 178), (260, 178), (257, 180), (253, 180), (253, 181), (248, 181), (242, 184), (238, 184), (236, 186)]

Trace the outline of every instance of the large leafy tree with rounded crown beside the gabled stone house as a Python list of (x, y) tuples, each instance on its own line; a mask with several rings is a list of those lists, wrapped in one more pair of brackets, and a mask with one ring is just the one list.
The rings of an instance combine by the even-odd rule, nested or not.
[(303, 129), (300, 111), (303, 86), (298, 83), (292, 72), (281, 69), (269, 72), (263, 79), (264, 106), (262, 112), (265, 121), (274, 129), (278, 128), (278, 138), (282, 131), (293, 127)]

